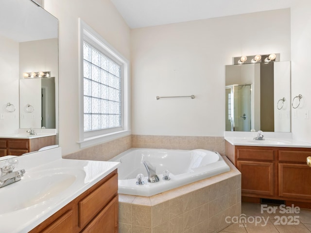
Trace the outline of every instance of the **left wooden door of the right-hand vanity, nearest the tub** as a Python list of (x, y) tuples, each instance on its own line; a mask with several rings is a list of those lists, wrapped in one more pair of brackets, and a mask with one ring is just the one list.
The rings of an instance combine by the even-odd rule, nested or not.
[(274, 163), (238, 161), (242, 173), (242, 195), (274, 195)]

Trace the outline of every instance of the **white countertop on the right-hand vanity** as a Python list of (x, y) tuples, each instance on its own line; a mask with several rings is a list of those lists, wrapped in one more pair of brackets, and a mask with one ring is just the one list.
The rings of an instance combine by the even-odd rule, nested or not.
[(225, 140), (233, 146), (259, 146), (259, 147), (301, 147), (311, 148), (311, 143), (295, 141), (291, 138), (265, 138), (253, 140), (252, 137), (227, 137)]

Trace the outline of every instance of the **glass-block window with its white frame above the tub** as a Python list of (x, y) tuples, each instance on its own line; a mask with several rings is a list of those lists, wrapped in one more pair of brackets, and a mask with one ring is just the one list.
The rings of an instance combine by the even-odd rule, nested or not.
[(130, 134), (128, 61), (81, 19), (80, 147)]

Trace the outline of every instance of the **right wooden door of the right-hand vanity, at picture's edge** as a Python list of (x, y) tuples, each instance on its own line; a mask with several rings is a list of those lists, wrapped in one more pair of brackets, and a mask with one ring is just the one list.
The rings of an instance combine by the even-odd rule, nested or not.
[(280, 197), (311, 200), (311, 167), (305, 164), (278, 164)]

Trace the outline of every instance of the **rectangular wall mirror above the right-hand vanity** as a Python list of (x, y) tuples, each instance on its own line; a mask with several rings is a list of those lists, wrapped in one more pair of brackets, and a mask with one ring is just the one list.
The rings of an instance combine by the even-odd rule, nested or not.
[(225, 131), (291, 132), (291, 64), (225, 66)]

